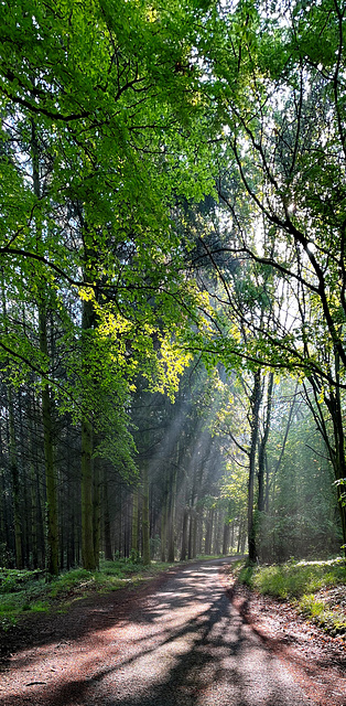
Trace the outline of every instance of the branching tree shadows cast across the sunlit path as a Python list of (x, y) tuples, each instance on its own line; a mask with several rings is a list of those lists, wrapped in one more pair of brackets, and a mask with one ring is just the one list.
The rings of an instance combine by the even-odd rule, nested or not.
[[(294, 686), (286, 685), (283, 694), (274, 657), (230, 607), (226, 591), (213, 591), (213, 580), (205, 584), (207, 591), (203, 589), (207, 575), (208, 569), (202, 567), (171, 576), (147, 605), (125, 619), (123, 625), (131, 624), (134, 635), (140, 629), (138, 638), (132, 639), (134, 646), (129, 656), (100, 665), (94, 674), (79, 680), (72, 674), (71, 680), (62, 675), (47, 686), (32, 684), (35, 688), (31, 698), (29, 691), (28, 700), (21, 702), (17, 696), (0, 698), (0, 706), (19, 706), (29, 700), (44, 706), (305, 704), (295, 696)], [(188, 617), (192, 605), (194, 614)], [(160, 624), (167, 612), (169, 620)], [(154, 632), (150, 627), (155, 628)]]

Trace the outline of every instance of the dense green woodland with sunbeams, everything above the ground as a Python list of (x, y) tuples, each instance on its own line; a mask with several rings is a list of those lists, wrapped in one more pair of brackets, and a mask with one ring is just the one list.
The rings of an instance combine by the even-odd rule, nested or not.
[(340, 0), (0, 4), (0, 564), (346, 546)]

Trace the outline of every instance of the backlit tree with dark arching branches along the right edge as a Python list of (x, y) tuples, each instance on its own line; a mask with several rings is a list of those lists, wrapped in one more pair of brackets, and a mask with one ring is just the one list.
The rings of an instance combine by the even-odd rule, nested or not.
[[(223, 10), (218, 41), (205, 36), (202, 51), (219, 130), (215, 257), (221, 250), (252, 263), (257, 301), (267, 300), (257, 319), (229, 306), (215, 350), (318, 381), (321, 400), (339, 398), (329, 451), (346, 542), (344, 19), (334, 0), (271, 11), (240, 1)], [(231, 304), (236, 284), (228, 282)], [(239, 345), (244, 327), (251, 335)]]

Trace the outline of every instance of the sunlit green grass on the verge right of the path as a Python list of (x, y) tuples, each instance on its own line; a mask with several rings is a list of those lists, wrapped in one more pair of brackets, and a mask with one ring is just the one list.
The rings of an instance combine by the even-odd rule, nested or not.
[[(328, 561), (288, 561), (272, 566), (235, 568), (239, 582), (260, 593), (288, 600), (309, 620), (332, 634), (346, 633), (346, 563), (338, 557)], [(339, 587), (339, 600), (333, 599)]]

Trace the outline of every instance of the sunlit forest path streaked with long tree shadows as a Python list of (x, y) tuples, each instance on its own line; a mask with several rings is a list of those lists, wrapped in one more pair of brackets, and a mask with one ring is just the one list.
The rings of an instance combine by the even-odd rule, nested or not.
[(138, 602), (134, 591), (120, 614), (94, 599), (79, 637), (12, 656), (0, 705), (312, 705), (230, 605), (225, 563), (179, 568)]

